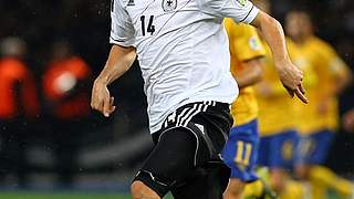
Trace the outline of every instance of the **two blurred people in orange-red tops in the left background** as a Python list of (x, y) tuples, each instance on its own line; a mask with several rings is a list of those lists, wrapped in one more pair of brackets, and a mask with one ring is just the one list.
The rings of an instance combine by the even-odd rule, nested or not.
[[(71, 53), (66, 42), (53, 43), (50, 51), (50, 61), (38, 84), (24, 60), (24, 41), (7, 38), (0, 43), (1, 177), (13, 171), (21, 184), (25, 184), (28, 172), (27, 145), (35, 137), (35, 125), (43, 124), (50, 129), (46, 142), (55, 144), (52, 147), (59, 158), (56, 170), (61, 181), (71, 181), (75, 140), (90, 116), (90, 67)], [(39, 90), (42, 90), (42, 102)], [(44, 107), (41, 106), (48, 112), (42, 112)], [(39, 118), (44, 116), (43, 123)]]

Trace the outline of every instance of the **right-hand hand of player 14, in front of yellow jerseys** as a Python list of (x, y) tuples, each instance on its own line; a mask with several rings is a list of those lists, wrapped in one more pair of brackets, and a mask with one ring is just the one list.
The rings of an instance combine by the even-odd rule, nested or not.
[(289, 95), (293, 97), (296, 95), (303, 103), (308, 104), (309, 100), (305, 96), (305, 90), (302, 85), (303, 72), (299, 70), (290, 61), (282, 66), (277, 67), (279, 70), (280, 81), (287, 88)]

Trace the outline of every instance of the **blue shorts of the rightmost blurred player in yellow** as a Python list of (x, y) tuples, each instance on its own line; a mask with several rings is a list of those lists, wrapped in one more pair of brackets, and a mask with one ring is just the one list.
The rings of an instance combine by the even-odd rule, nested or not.
[(300, 139), (300, 163), (305, 165), (322, 165), (326, 160), (335, 134), (331, 130), (302, 136)]

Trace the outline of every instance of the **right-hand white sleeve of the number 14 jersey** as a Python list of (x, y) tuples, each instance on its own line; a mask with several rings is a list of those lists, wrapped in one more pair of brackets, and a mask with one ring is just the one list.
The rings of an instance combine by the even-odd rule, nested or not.
[(251, 23), (259, 9), (249, 0), (198, 0), (201, 12), (236, 22)]

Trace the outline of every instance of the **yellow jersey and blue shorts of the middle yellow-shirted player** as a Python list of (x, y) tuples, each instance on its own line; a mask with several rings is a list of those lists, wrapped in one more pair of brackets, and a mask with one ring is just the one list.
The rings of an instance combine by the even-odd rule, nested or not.
[[(308, 74), (312, 67), (303, 54), (287, 39), (287, 46), (292, 62)], [(263, 81), (259, 84), (257, 94), (259, 102), (260, 148), (259, 165), (270, 168), (291, 168), (298, 160), (299, 134), (296, 132), (299, 106), (296, 98), (291, 98), (279, 81), (271, 51), (264, 43), (267, 56)], [(312, 85), (316, 77), (304, 76), (304, 84)], [(269, 92), (262, 91), (267, 85)]]

